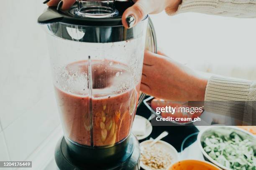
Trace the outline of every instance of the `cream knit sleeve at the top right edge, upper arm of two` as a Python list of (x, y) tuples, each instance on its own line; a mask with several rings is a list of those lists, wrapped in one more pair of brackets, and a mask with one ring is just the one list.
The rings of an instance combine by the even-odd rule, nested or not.
[(196, 12), (237, 18), (256, 18), (256, 0), (182, 0), (176, 13), (170, 7), (166, 13)]

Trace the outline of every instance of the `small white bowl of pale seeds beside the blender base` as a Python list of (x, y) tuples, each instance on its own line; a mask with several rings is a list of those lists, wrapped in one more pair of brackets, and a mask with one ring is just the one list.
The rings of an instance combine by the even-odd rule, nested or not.
[(166, 170), (170, 165), (178, 161), (177, 150), (162, 140), (150, 145), (153, 140), (140, 143), (141, 168), (144, 170)]

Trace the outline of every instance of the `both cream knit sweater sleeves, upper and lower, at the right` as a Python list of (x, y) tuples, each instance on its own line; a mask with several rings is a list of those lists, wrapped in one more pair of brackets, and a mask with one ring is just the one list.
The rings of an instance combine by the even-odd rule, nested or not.
[[(172, 9), (166, 8), (167, 14), (174, 15), (171, 11)], [(256, 18), (256, 0), (182, 0), (175, 14), (185, 12)], [(256, 65), (256, 59), (253, 62)], [(221, 101), (205, 102), (205, 109), (209, 112), (220, 115), (233, 114), (231, 117), (243, 120), (244, 125), (255, 125), (256, 123), (256, 81), (212, 76), (207, 84), (205, 101)], [(234, 105), (230, 101), (247, 102), (243, 102), (241, 105), (237, 104), (234, 109)], [(243, 110), (242, 115), (241, 110)]]

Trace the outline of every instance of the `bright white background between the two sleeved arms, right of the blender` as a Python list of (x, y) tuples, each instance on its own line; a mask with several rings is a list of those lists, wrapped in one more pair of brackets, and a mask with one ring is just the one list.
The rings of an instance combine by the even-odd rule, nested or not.
[(159, 47), (204, 72), (256, 80), (256, 18), (152, 15)]

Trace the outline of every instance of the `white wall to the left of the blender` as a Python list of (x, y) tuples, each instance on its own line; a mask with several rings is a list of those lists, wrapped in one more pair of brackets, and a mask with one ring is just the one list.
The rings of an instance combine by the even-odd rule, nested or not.
[(26, 160), (59, 125), (39, 0), (0, 10), (0, 160)]

